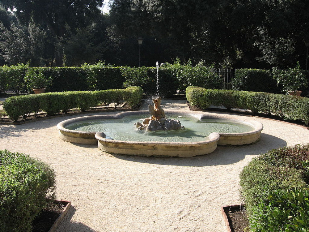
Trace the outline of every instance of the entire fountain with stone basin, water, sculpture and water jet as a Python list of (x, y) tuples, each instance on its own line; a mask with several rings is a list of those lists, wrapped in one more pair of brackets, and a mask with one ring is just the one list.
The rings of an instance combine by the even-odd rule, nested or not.
[[(260, 139), (263, 130), (260, 122), (231, 120), (222, 114), (164, 111), (159, 97), (158, 69), (157, 62), (158, 95), (152, 99), (154, 105), (149, 105), (148, 111), (68, 119), (58, 123), (59, 137), (72, 143), (98, 144), (107, 153), (170, 157), (204, 155), (213, 152), (217, 145), (251, 144)], [(151, 116), (145, 118), (149, 113)], [(182, 118), (185, 127), (174, 118)], [(137, 119), (142, 123), (136, 122)]]

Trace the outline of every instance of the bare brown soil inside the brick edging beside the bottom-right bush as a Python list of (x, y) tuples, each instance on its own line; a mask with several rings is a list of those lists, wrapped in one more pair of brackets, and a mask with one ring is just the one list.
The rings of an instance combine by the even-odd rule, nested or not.
[(249, 221), (247, 219), (246, 210), (243, 207), (233, 207), (229, 211), (226, 211), (227, 219), (229, 220), (232, 232), (246, 232), (248, 228)]

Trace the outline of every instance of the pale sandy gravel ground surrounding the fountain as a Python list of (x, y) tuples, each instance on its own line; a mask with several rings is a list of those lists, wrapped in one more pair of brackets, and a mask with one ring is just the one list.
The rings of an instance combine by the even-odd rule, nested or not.
[[(165, 103), (165, 107), (185, 110), (183, 103)], [(76, 117), (68, 116), (0, 125), (0, 149), (27, 153), (53, 167), (57, 198), (72, 202), (57, 232), (225, 232), (220, 207), (241, 203), (239, 173), (252, 157), (309, 141), (309, 131), (297, 126), (230, 116), (262, 122), (261, 140), (218, 146), (211, 154), (191, 158), (110, 155), (96, 145), (59, 139), (57, 123)]]

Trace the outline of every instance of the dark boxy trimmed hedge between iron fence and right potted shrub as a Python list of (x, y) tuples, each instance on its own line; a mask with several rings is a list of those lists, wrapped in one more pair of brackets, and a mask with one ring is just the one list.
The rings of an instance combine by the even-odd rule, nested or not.
[(271, 71), (264, 69), (236, 69), (231, 85), (235, 90), (277, 92)]

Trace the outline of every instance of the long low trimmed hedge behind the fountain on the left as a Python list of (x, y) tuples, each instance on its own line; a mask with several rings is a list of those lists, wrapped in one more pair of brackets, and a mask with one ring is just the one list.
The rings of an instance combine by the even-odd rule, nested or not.
[(71, 91), (29, 94), (9, 97), (3, 104), (3, 109), (13, 121), (20, 116), (26, 118), (29, 114), (44, 111), (49, 115), (67, 112), (78, 108), (85, 111), (98, 104), (105, 106), (114, 102), (115, 107), (127, 101), (131, 107), (135, 107), (142, 99), (141, 87), (129, 87), (126, 89), (110, 89), (100, 91)]

